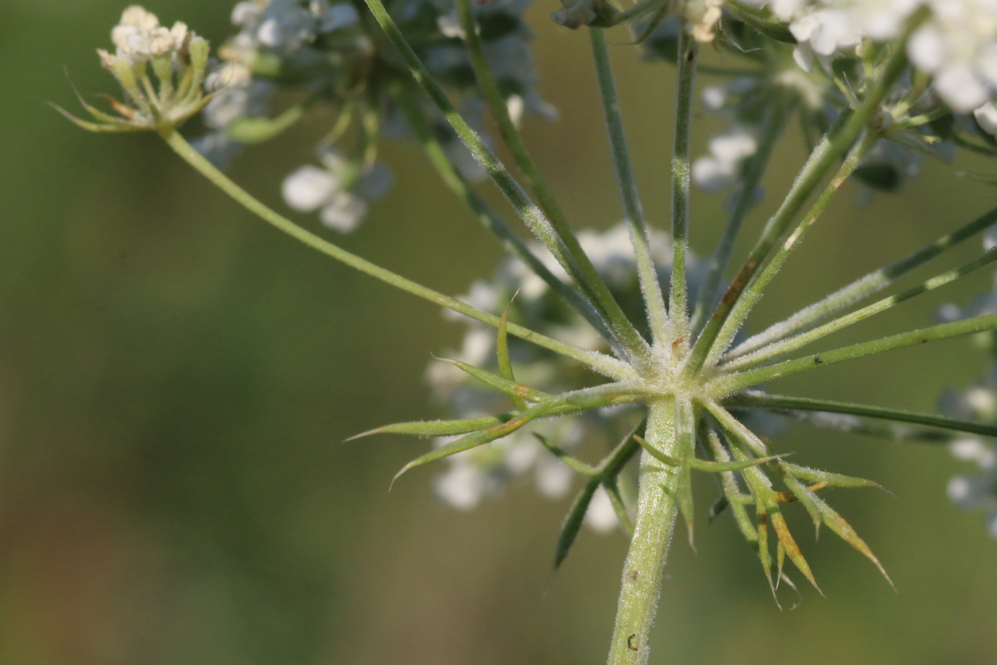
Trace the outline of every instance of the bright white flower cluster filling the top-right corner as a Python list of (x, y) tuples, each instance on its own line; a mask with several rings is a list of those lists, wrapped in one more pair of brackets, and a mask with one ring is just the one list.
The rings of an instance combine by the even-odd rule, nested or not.
[(919, 70), (955, 111), (970, 112), (997, 91), (997, 0), (748, 0), (769, 6), (799, 45), (797, 62), (810, 71), (815, 57), (828, 69), (839, 53), (863, 39), (896, 37), (920, 7), (927, 20), (907, 42)]

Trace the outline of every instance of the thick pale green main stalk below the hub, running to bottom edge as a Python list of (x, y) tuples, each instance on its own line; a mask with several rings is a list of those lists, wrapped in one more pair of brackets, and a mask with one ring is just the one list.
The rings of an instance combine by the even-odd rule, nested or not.
[[(674, 399), (666, 398), (649, 405), (645, 439), (665, 455), (677, 456)], [(646, 451), (642, 453), (637, 519), (623, 566), (623, 585), (608, 665), (647, 662), (662, 568), (675, 525), (678, 482), (677, 468), (662, 464)]]

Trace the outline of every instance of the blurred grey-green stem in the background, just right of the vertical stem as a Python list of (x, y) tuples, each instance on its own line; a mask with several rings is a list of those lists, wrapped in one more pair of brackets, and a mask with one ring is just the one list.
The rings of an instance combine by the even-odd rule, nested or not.
[[(702, 66), (699, 70), (703, 71)], [(720, 289), (721, 280), (727, 272), (727, 266), (731, 261), (731, 254), (734, 253), (734, 245), (737, 242), (738, 234), (741, 232), (741, 224), (744, 221), (745, 215), (748, 214), (749, 208), (752, 206), (755, 198), (755, 189), (758, 187), (758, 183), (761, 181), (766, 167), (769, 166), (769, 158), (772, 157), (772, 151), (776, 147), (779, 136), (783, 133), (783, 126), (786, 124), (787, 114), (784, 102), (777, 101), (773, 104), (766, 112), (765, 118), (762, 121), (758, 152), (751, 158), (751, 164), (748, 166), (744, 179), (739, 184), (741, 190), (738, 192), (734, 203), (734, 211), (727, 221), (724, 234), (720, 237), (717, 250), (713, 252), (713, 257), (710, 259), (710, 270), (707, 273), (706, 280), (703, 282), (703, 286), (699, 290), (699, 297), (696, 299), (692, 323), (690, 324), (693, 335), (701, 332), (703, 324), (706, 322), (707, 311), (714, 306), (714, 303), (720, 296), (717, 291)]]

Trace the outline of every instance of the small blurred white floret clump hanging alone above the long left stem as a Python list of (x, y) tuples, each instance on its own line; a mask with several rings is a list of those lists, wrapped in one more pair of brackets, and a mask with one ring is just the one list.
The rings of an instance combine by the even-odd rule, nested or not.
[(298, 212), (318, 210), (323, 224), (349, 233), (366, 216), (368, 202), (391, 188), (391, 173), (380, 165), (364, 169), (334, 148), (321, 150), (319, 159), (325, 168), (301, 166), (284, 179), (284, 200)]

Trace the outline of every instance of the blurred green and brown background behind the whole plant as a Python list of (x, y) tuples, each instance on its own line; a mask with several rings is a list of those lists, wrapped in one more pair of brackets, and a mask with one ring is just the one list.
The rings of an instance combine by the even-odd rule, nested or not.
[[(147, 6), (217, 44), (232, 4)], [(432, 497), (436, 470), (389, 495), (426, 444), (340, 443), (441, 415), (423, 370), (460, 327), (278, 235), (154, 137), (89, 135), (43, 106), (77, 108), (66, 69), (85, 93), (116, 92), (94, 49), (122, 8), (0, 0), (0, 663), (603, 662), (621, 534), (584, 531), (544, 595), (566, 501), (523, 484), (462, 513)], [(542, 0), (530, 16), (541, 89), (562, 119), (527, 122), (527, 139), (573, 223), (604, 228), (621, 213), (587, 39), (549, 23), (554, 8)], [(645, 207), (660, 224), (674, 72), (629, 48), (614, 57)], [(233, 177), (285, 209), (280, 179), (311, 161), (327, 123), (249, 151)], [(697, 126), (697, 154), (716, 127)], [(802, 163), (799, 133), (788, 136), (749, 232)], [(386, 159), (394, 191), (342, 244), (465, 292), (498, 260), (496, 243), (414, 148), (392, 145)], [(986, 167), (925, 165), (899, 195), (864, 208), (846, 185), (754, 329), (992, 205), (992, 189), (955, 174)], [(697, 193), (695, 205), (702, 252), (722, 200)], [(946, 265), (978, 250), (970, 244)], [(940, 302), (964, 303), (990, 280), (981, 271), (832, 341), (930, 323)], [(941, 389), (985, 369), (981, 352), (954, 340), (778, 390), (933, 410)], [(827, 598), (805, 589), (801, 607), (780, 612), (733, 521), (706, 526), (714, 489), (701, 479), (699, 553), (676, 540), (653, 663), (997, 662), (997, 543), (945, 498), (958, 469), (945, 451), (804, 428), (779, 447), (895, 493), (839, 491), (832, 502), (899, 593), (831, 534), (815, 544), (790, 509)]]

